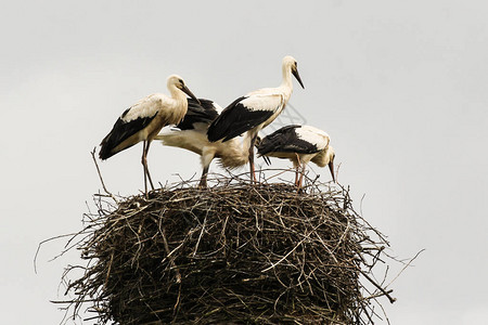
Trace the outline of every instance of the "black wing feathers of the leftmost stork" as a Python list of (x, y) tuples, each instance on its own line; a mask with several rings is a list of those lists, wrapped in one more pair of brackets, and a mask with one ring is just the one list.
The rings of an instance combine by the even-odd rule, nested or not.
[[(114, 152), (114, 148), (123, 143), (125, 140), (129, 139), (131, 135), (136, 134), (140, 130), (144, 129), (157, 115), (154, 114), (153, 116), (147, 117), (139, 117), (136, 119), (132, 119), (130, 121), (123, 120), (124, 116), (127, 115), (130, 108), (127, 108), (123, 115), (117, 119), (114, 127), (112, 128), (112, 131), (102, 140), (102, 143), (100, 144), (100, 159), (104, 160), (116, 153), (120, 152)], [(130, 146), (127, 146), (123, 150), (126, 150)], [(121, 151), (123, 151), (121, 150)]]

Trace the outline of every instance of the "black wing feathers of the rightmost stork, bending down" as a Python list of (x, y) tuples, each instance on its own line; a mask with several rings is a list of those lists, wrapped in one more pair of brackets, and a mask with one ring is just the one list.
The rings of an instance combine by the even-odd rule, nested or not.
[(298, 138), (295, 130), (300, 127), (286, 126), (265, 136), (258, 146), (258, 154), (262, 156), (269, 153), (313, 154), (319, 152), (314, 144)]

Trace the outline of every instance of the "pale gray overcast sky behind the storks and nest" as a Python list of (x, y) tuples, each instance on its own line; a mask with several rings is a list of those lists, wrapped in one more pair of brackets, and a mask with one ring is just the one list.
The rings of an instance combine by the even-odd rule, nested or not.
[[(76, 253), (48, 262), (63, 243), (47, 244), (38, 274), (34, 253), (81, 227), (101, 187), (89, 152), (125, 108), (175, 73), (224, 106), (278, 86), (285, 54), (306, 87), (291, 103), (331, 134), (357, 208), (365, 194), (391, 253), (426, 249), (383, 301), (390, 322), (486, 322), (487, 17), (486, 1), (0, 2), (2, 323), (61, 321), (49, 300)], [(141, 151), (101, 164), (110, 190), (143, 187)], [(200, 173), (176, 148), (149, 164), (162, 183)]]

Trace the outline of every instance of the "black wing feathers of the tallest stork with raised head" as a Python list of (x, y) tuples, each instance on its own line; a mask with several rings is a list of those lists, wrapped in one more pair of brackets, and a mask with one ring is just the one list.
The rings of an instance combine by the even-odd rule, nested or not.
[(223, 142), (239, 136), (273, 115), (271, 110), (249, 110), (241, 102), (242, 96), (233, 101), (208, 127), (207, 138), (210, 142), (223, 139)]

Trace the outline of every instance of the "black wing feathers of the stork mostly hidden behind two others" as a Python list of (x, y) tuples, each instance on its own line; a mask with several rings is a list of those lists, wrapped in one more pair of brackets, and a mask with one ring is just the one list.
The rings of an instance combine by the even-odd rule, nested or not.
[(214, 119), (219, 116), (217, 109), (214, 106), (214, 102), (209, 100), (198, 99), (198, 104), (193, 99), (188, 99), (188, 110), (183, 120), (177, 126), (180, 130), (192, 130), (194, 123), (202, 122), (209, 125)]

